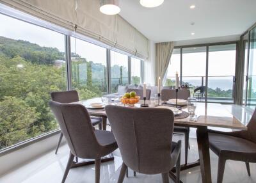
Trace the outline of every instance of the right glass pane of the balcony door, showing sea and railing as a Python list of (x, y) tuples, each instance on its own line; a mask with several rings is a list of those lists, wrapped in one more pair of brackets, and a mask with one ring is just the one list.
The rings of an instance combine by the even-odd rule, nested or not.
[(208, 96), (211, 102), (234, 102), (236, 44), (209, 46)]

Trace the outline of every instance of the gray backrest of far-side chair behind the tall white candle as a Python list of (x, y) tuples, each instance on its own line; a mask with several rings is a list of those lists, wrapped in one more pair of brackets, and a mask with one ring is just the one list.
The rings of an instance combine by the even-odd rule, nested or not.
[[(178, 99), (188, 100), (188, 97), (190, 97), (189, 90), (178, 90)], [(161, 100), (167, 101), (169, 99), (176, 99), (175, 89), (163, 89), (161, 91)]]

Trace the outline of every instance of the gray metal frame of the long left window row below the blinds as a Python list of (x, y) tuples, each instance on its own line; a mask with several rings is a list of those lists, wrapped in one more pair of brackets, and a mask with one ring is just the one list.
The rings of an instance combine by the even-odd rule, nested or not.
[[(71, 42), (70, 42), (70, 37), (74, 37), (74, 38), (79, 38), (80, 40), (83, 40), (85, 42), (89, 42), (90, 44), (94, 44), (97, 45), (99, 47), (103, 47), (106, 49), (106, 75), (107, 75), (107, 93), (111, 93), (111, 58), (110, 58), (110, 51), (115, 51), (115, 52), (119, 52), (121, 54), (125, 54), (126, 56), (128, 56), (128, 80), (129, 83), (131, 84), (131, 57), (132, 58), (137, 58), (141, 61), (141, 83), (143, 83), (143, 73), (144, 73), (144, 65), (143, 65), (143, 59), (138, 58), (135, 55), (129, 54), (127, 52), (124, 51), (120, 51), (116, 48), (110, 47), (109, 45), (103, 44), (102, 42), (99, 42), (97, 40), (93, 40), (93, 38), (89, 38), (88, 36), (84, 36), (81, 35), (79, 33), (76, 33), (75, 31), (70, 31), (68, 29), (65, 28), (61, 28), (60, 26), (57, 26), (55, 24), (52, 24), (51, 22), (47, 22), (45, 20), (42, 19), (38, 19), (37, 17), (33, 17), (31, 15), (28, 15), (26, 13), (22, 13), (19, 12), (18, 10), (12, 10), (12, 8), (2, 8), (0, 6), (0, 14), (4, 15), (4, 16), (8, 16), (11, 17), (13, 19), (17, 19), (23, 22), (27, 22), (28, 24), (33, 24), (35, 26), (38, 26), (40, 28), (45, 28), (45, 29), (49, 29), (51, 31), (55, 31), (57, 33), (61, 33), (64, 37), (65, 37), (65, 59), (66, 59), (66, 81), (67, 81), (67, 91), (68, 90), (72, 90), (72, 67), (71, 67)], [(38, 141), (42, 141), (46, 138), (49, 138), (51, 136), (54, 136), (56, 134), (60, 133), (60, 128), (59, 129), (54, 129), (53, 131), (49, 131), (43, 134), (40, 134), (38, 136), (35, 136), (34, 138), (30, 138), (30, 139), (26, 139), (25, 141), (21, 141), (17, 144), (14, 144), (10, 147), (6, 147), (0, 150), (0, 157), (6, 154), (9, 154), (15, 150), (19, 150), (21, 148), (27, 147), (28, 145), (31, 145), (33, 143), (36, 143)]]

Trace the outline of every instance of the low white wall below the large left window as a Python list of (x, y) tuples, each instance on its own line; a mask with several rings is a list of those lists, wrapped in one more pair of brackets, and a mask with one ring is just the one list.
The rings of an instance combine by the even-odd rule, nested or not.
[[(19, 168), (24, 163), (28, 163), (32, 159), (49, 152), (56, 148), (60, 134), (55, 134), (49, 138), (43, 139), (42, 141), (37, 141), (27, 147), (20, 148), (11, 153), (3, 155), (0, 157), (0, 176), (8, 171), (12, 171), (15, 168)], [(65, 143), (65, 138), (63, 138), (61, 145)]]

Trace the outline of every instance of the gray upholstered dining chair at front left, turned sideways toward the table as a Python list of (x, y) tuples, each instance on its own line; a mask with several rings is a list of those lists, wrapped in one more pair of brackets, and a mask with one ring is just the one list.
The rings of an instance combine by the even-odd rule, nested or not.
[(88, 111), (81, 104), (61, 104), (50, 101), (49, 106), (70, 148), (62, 182), (65, 182), (74, 156), (76, 156), (82, 159), (95, 159), (95, 182), (99, 183), (100, 158), (118, 148), (113, 133), (94, 130)]

